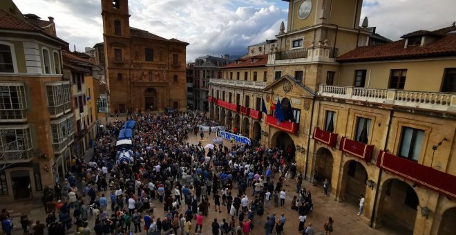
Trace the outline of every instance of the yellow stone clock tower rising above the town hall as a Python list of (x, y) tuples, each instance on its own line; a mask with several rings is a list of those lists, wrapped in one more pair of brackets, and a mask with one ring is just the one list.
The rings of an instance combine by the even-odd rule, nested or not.
[[(316, 92), (338, 76), (336, 57), (366, 46), (369, 32), (359, 26), (362, 0), (283, 0), (288, 21), (276, 35), (268, 58), (268, 74), (296, 77)], [(327, 77), (330, 79), (327, 79)], [(280, 77), (280, 76), (279, 76)]]

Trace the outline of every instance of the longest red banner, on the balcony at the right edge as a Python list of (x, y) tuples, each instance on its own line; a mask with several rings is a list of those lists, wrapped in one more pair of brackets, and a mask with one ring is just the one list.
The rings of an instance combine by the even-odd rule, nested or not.
[(380, 151), (377, 158), (377, 167), (412, 180), (446, 196), (456, 198), (456, 176), (449, 173), (418, 164), (406, 158), (394, 156), (386, 151)]

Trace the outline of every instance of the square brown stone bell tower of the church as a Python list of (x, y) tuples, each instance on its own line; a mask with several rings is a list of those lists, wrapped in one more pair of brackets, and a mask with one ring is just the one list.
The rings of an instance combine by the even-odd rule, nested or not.
[(128, 0), (102, 0), (102, 17), (105, 36), (130, 37)]

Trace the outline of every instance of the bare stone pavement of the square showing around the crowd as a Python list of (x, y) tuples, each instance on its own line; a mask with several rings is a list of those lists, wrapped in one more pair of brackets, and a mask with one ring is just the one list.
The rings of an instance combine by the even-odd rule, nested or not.
[[(109, 118), (111, 120), (111, 118)], [(113, 118), (115, 119), (115, 118)], [(104, 118), (102, 120), (104, 123)], [(212, 133), (211, 136), (207, 136), (208, 133), (205, 133), (205, 141), (204, 144), (207, 142), (211, 142), (211, 138), (215, 137), (215, 133)], [(192, 144), (198, 144), (200, 140), (199, 135), (189, 135), (189, 142)], [(203, 144), (203, 145), (204, 145)], [(227, 146), (230, 144), (227, 142), (225, 143)], [(86, 158), (89, 158), (93, 153), (92, 149), (86, 151)], [(277, 177), (276, 177), (277, 178)], [(274, 180), (275, 181), (275, 180)], [(290, 182), (289, 186), (285, 186), (287, 192), (287, 198), (285, 200), (285, 206), (283, 207), (269, 207), (265, 208), (265, 215), (271, 214), (273, 212), (276, 213), (276, 218), (280, 217), (280, 214), (284, 213), (285, 217), (287, 218), (287, 222), (285, 223), (284, 234), (298, 234), (298, 213), (291, 209), (291, 202), (293, 196), (297, 195), (294, 192), (294, 183)], [(310, 182), (303, 180), (303, 187), (306, 189), (310, 189), (312, 191), (312, 200), (314, 202), (314, 212), (310, 215), (307, 215), (307, 222), (312, 223), (314, 229), (316, 230), (316, 235), (325, 234), (323, 231), (323, 224), (327, 220), (328, 216), (332, 216), (334, 219), (334, 232), (332, 234), (399, 234), (392, 231), (389, 231), (386, 228), (382, 229), (371, 229), (368, 226), (368, 218), (364, 218), (363, 216), (357, 216), (358, 207), (357, 205), (350, 205), (348, 203), (337, 203), (334, 201), (334, 197), (328, 196), (325, 197), (323, 195), (323, 188), (320, 186), (313, 186)], [(251, 195), (251, 187), (247, 189), (247, 195)], [(109, 195), (109, 191), (104, 192), (104, 194)], [(251, 199), (251, 197), (249, 197)], [(108, 199), (109, 200), (109, 199)], [(231, 219), (231, 216), (227, 214), (226, 207), (225, 210), (222, 210), (222, 213), (218, 213), (213, 209), (213, 198), (209, 197), (209, 201), (211, 202), (211, 208), (209, 209), (209, 215), (204, 219), (204, 223), (202, 226), (202, 234), (211, 234), (211, 223), (213, 218), (217, 218), (219, 223), (222, 218), (227, 218), (227, 220)], [(158, 200), (153, 200), (153, 204), (155, 205), (154, 216), (156, 217), (164, 217), (163, 206), (160, 205)], [(274, 204), (274, 203), (272, 203)], [(10, 203), (9, 205), (0, 205), (1, 208), (7, 208), (8, 211), (11, 212), (11, 216), (13, 218), (13, 223), (15, 224), (15, 229), (13, 234), (22, 234), (21, 225), (19, 223), (19, 216), (21, 214), (28, 214), (31, 220), (41, 220), (45, 223), (46, 221), (46, 214), (44, 213), (43, 206), (41, 205), (40, 200), (35, 201), (23, 201), (23, 202), (15, 202)], [(180, 208), (180, 212), (184, 212), (186, 206)], [(73, 210), (71, 211), (73, 213)], [(111, 213), (110, 207), (108, 207), (108, 213)], [(254, 229), (252, 234), (265, 234), (263, 225), (265, 223), (266, 216), (256, 216), (254, 218)], [(193, 224), (195, 220), (193, 220)], [(89, 216), (89, 227), (93, 229), (95, 225), (95, 218)], [(144, 225), (144, 224), (142, 224)], [(133, 228), (133, 225), (132, 225)], [(194, 225), (193, 225), (194, 228)], [(180, 234), (180, 232), (178, 232)], [(47, 234), (47, 233), (46, 233)], [(66, 234), (77, 234), (75, 232), (75, 226), (73, 226)], [(95, 233), (93, 233), (95, 234)], [(137, 234), (145, 234), (143, 231), (142, 233)], [(193, 232), (191, 233), (193, 234)]]

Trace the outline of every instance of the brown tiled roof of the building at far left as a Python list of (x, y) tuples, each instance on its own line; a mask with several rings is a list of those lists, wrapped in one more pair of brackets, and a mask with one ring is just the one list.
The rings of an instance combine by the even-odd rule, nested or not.
[[(38, 26), (35, 26), (32, 23), (28, 22), (25, 17), (20, 18), (16, 15), (12, 15), (10, 12), (0, 10), (0, 19), (0, 29), (35, 31), (48, 35), (48, 33), (46, 33)], [(60, 39), (59, 37), (54, 37), (53, 35), (48, 36), (61, 41), (63, 44), (68, 44), (66, 41)]]

